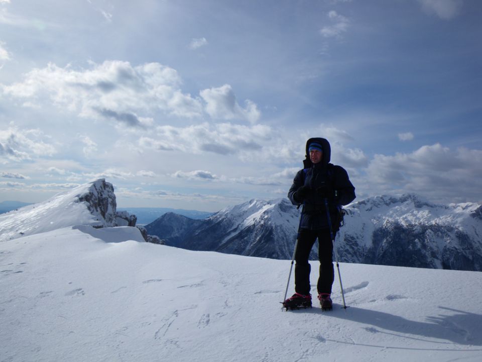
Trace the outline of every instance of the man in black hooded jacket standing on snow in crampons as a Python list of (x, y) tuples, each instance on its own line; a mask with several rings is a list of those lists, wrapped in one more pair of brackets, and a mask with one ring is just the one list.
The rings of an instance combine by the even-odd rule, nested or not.
[(341, 205), (355, 199), (355, 188), (341, 166), (330, 161), (331, 148), (324, 138), (310, 138), (306, 142), (304, 169), (296, 174), (288, 198), (296, 206), (303, 205), (298, 245), (295, 251), (295, 294), (283, 302), (286, 309), (311, 307), (311, 266), (308, 262), (311, 248), (318, 239), (320, 272), (317, 284), (318, 300), (323, 310), (331, 309), (331, 286), (334, 281), (333, 242), (326, 214), (328, 203), (333, 232), (339, 229)]

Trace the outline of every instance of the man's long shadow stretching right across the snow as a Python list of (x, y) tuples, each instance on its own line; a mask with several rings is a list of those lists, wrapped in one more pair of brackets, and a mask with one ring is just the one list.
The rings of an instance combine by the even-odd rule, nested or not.
[[(333, 309), (335, 308), (341, 309), (339, 305), (333, 305)], [(367, 325), (365, 330), (374, 334), (386, 333), (401, 338), (411, 338), (431, 343), (445, 344), (443, 341), (425, 338), (448, 340), (463, 345), (482, 346), (482, 315), (441, 306), (438, 308), (444, 313), (437, 316), (428, 316), (426, 321), (413, 321), (393, 314), (357, 307), (335, 310), (332, 314), (331, 312), (323, 313), (330, 313), (330, 318), (346, 319), (365, 324)], [(313, 308), (312, 311), (321, 313), (321, 310), (318, 308)], [(391, 330), (394, 333), (387, 332), (387, 330)], [(420, 338), (407, 336), (406, 334), (420, 336)]]

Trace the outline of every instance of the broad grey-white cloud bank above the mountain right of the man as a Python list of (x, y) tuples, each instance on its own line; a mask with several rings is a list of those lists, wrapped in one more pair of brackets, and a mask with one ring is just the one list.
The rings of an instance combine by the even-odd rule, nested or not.
[[(367, 185), (380, 192), (394, 188), (434, 200), (480, 201), (482, 150), (451, 150), (436, 143), (412, 153), (376, 155), (367, 168)], [(471, 200), (462, 200), (465, 195)]]

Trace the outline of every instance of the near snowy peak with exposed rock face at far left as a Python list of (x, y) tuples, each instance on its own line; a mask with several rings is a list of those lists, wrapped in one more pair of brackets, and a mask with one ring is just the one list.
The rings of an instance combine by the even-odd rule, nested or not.
[(45, 202), (0, 215), (0, 241), (68, 226), (135, 226), (136, 217), (116, 212), (112, 184), (104, 178), (59, 193)]

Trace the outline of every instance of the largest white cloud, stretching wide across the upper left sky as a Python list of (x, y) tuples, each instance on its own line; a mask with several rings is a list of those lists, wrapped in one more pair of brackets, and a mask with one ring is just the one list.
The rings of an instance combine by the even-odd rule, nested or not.
[(100, 116), (128, 127), (148, 125), (146, 120), (158, 111), (186, 118), (203, 114), (201, 101), (182, 93), (176, 70), (159, 63), (91, 62), (90, 69), (80, 70), (49, 63), (24, 77), (3, 85), (4, 94), (34, 105), (46, 98), (82, 117)]

